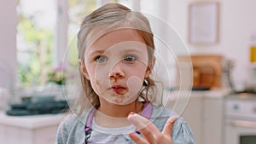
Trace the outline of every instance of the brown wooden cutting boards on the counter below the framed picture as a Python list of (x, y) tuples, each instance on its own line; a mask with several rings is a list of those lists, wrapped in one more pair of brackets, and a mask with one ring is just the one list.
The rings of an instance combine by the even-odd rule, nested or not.
[[(179, 56), (178, 60), (188, 58)], [(193, 66), (193, 89), (211, 89), (221, 86), (222, 55), (190, 55)]]

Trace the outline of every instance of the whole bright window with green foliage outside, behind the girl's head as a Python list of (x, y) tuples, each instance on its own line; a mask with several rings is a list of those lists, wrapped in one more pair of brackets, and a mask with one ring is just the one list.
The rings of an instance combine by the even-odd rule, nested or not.
[(59, 65), (71, 69), (77, 66), (80, 23), (85, 15), (104, 3), (122, 3), (131, 9), (140, 5), (139, 0), (20, 0), (17, 6), (19, 83), (44, 85)]

